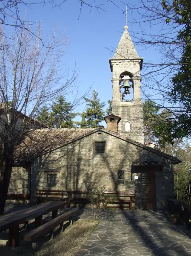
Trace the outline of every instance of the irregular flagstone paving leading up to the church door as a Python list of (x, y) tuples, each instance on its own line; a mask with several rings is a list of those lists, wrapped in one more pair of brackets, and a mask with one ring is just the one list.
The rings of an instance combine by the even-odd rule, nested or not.
[[(80, 219), (91, 219), (81, 210)], [(169, 222), (165, 212), (106, 211), (76, 256), (191, 256), (191, 231)]]

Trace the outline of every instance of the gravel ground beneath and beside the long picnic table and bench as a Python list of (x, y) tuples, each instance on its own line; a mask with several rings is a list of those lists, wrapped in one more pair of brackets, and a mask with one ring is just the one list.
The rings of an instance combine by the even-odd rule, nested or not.
[(49, 236), (40, 238), (35, 251), (31, 249), (30, 242), (23, 241), (20, 247), (12, 250), (5, 246), (6, 240), (0, 240), (0, 256), (74, 256), (97, 224), (98, 221), (76, 221), (54, 240)]

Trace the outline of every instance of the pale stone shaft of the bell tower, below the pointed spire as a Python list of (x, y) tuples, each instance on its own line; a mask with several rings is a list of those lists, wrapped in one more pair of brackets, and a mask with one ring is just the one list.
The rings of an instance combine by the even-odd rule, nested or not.
[[(143, 102), (141, 100), (141, 78), (140, 65), (141, 59), (137, 60), (114, 60), (111, 59), (113, 71), (113, 101), (112, 113), (120, 116), (121, 120), (118, 124), (119, 134), (144, 144), (143, 133)], [(133, 76), (133, 92), (134, 96), (130, 102), (121, 102), (120, 99), (120, 75), (128, 72)], [(131, 130), (125, 131), (125, 122), (129, 122)]]

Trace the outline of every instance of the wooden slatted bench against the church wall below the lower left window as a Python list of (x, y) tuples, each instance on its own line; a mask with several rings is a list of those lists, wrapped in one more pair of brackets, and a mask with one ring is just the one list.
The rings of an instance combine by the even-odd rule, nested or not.
[(67, 192), (63, 190), (48, 190), (48, 189), (39, 189), (36, 191), (36, 203), (40, 204), (41, 202), (46, 201), (66, 201)]

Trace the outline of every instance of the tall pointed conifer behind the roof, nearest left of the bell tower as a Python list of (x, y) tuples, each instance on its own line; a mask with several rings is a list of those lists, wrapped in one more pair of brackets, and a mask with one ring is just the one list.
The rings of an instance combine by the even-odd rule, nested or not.
[(100, 99), (98, 99), (97, 96), (98, 93), (93, 90), (91, 99), (84, 98), (86, 101), (86, 112), (84, 112), (84, 116), (86, 116), (86, 123), (88, 128), (97, 128), (97, 125), (103, 120), (103, 116), (105, 114), (103, 111), (105, 103), (100, 103)]

